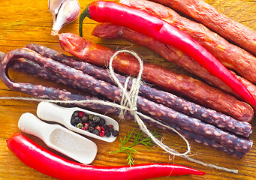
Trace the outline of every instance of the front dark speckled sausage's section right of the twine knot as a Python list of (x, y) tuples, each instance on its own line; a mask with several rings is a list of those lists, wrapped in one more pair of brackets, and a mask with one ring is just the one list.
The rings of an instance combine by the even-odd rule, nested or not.
[[(144, 107), (145, 110), (142, 108), (140, 109), (140, 107)], [(250, 140), (245, 141), (245, 139), (238, 138), (237, 136), (220, 130), (211, 124), (203, 123), (196, 118), (191, 118), (182, 113), (178, 113), (161, 104), (153, 104), (146, 98), (141, 98), (140, 101), (138, 100), (138, 109), (146, 115), (150, 115), (154, 118), (160, 119), (161, 121), (167, 122), (167, 124), (175, 124), (177, 127), (181, 127), (182, 129), (194, 133), (197, 132), (200, 136), (215, 140), (216, 142), (237, 151), (246, 153), (252, 145)]]

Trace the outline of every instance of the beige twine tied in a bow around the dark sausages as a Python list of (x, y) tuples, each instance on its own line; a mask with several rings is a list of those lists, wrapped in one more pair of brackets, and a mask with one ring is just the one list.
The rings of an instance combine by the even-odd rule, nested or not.
[[(137, 78), (133, 79), (133, 83), (132, 83), (132, 86), (131, 86), (131, 89), (129, 92), (127, 91), (127, 86), (128, 86), (128, 82), (131, 77), (128, 77), (125, 82), (125, 86), (122, 86), (122, 84), (119, 82), (119, 80), (117, 80), (117, 78), (114, 74), (114, 71), (113, 71), (113, 67), (112, 67), (113, 59), (116, 57), (116, 55), (118, 55), (121, 52), (127, 52), (127, 53), (130, 53), (131, 55), (134, 55), (135, 58), (137, 58), (137, 60), (140, 63), (139, 74), (138, 74)], [(135, 121), (137, 121), (137, 124), (139, 125), (140, 129), (143, 130), (143, 132), (146, 133), (146, 135), (149, 136), (152, 139), (152, 141), (155, 142), (156, 145), (161, 147), (164, 151), (167, 151), (167, 153), (172, 154), (173, 156), (183, 157), (186, 160), (201, 164), (203, 166), (208, 166), (208, 167), (215, 168), (215, 169), (221, 169), (221, 170), (224, 170), (227, 172), (238, 173), (238, 170), (236, 170), (236, 169), (228, 169), (223, 166), (216, 166), (211, 163), (204, 163), (200, 160), (195, 160), (191, 157), (188, 157), (188, 153), (191, 151), (190, 145), (189, 145), (188, 140), (185, 139), (185, 137), (182, 136), (182, 134), (180, 134), (177, 130), (173, 129), (172, 127), (168, 126), (167, 124), (163, 124), (163, 123), (161, 123), (161, 121), (156, 121), (155, 119), (150, 118), (149, 116), (143, 115), (142, 113), (139, 113), (137, 111), (137, 98), (138, 98), (139, 89), (140, 89), (140, 80), (141, 80), (141, 76), (143, 73), (143, 61), (135, 52), (125, 50), (125, 49), (116, 51), (116, 53), (110, 58), (109, 68), (110, 68), (111, 78), (113, 78), (114, 82), (117, 84), (117, 86), (119, 87), (119, 89), (122, 92), (122, 100), (121, 100), (120, 105), (111, 103), (111, 102), (101, 101), (101, 100), (58, 101), (58, 100), (45, 100), (45, 99), (39, 99), (39, 98), (23, 98), (23, 97), (0, 97), (0, 100), (20, 100), (20, 101), (38, 101), (38, 102), (46, 101), (46, 102), (50, 102), (50, 103), (80, 104), (80, 105), (102, 104), (102, 105), (119, 108), (119, 110), (121, 110), (121, 113), (119, 114), (119, 116), (121, 118), (124, 118), (125, 112), (129, 111), (131, 113), (131, 115), (134, 115), (134, 119), (135, 119)], [(155, 136), (153, 136), (152, 133), (149, 132), (148, 128), (143, 123), (143, 121), (141, 120), (140, 117), (146, 118), (149, 121), (153, 121), (154, 123), (159, 124), (162, 127), (165, 127), (166, 129), (173, 130), (173, 132), (177, 133), (186, 142), (187, 151), (185, 151), (184, 153), (179, 153), (179, 152), (175, 151), (173, 148), (169, 148), (167, 145), (164, 145), (163, 142), (161, 142), (160, 140), (155, 138)]]

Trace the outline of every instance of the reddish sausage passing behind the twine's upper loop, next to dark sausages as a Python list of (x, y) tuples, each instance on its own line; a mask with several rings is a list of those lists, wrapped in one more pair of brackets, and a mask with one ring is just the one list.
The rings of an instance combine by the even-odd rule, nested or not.
[[(99, 28), (96, 27), (95, 31), (98, 29), (102, 32), (101, 34), (108, 35), (110, 32), (113, 34), (114, 32), (112, 31), (112, 28), (108, 28), (113, 26), (110, 24), (107, 24), (106, 26), (107, 28), (105, 28), (105, 26), (98, 26)], [(119, 28), (116, 28), (116, 26), (113, 29), (118, 29), (118, 31), (115, 31), (115, 34), (122, 34), (122, 31), (119, 31)], [(62, 48), (67, 52), (70, 52), (72, 55), (77, 56), (83, 61), (99, 66), (107, 65), (110, 57), (114, 54), (112, 49), (91, 43), (89, 40), (85, 40), (76, 34), (59, 34), (59, 41)], [(149, 43), (151, 42), (149, 41)], [(156, 46), (158, 46), (158, 43)], [(178, 55), (176, 60), (182, 62)], [(113, 61), (113, 68), (122, 74), (136, 76), (138, 67), (138, 62), (135, 61), (134, 57), (131, 55), (120, 54), (117, 55), (115, 61)], [(253, 117), (253, 110), (248, 104), (238, 101), (233, 96), (212, 88), (200, 80), (175, 74), (161, 66), (144, 63), (143, 80), (155, 84), (155, 86), (161, 87), (161, 89), (168, 92), (189, 98), (191, 101), (203, 105), (203, 107), (209, 107), (210, 109), (230, 115), (239, 121), (250, 121)]]

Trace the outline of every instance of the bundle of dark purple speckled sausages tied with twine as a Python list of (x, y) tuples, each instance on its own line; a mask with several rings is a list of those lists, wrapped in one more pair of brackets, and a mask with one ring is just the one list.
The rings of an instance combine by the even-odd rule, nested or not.
[[(77, 94), (77, 92), (29, 83), (14, 83), (8, 77), (8, 66), (79, 89), (81, 93)], [(122, 92), (112, 82), (108, 71), (86, 62), (79, 62), (68, 55), (63, 55), (38, 44), (29, 44), (26, 48), (8, 52), (2, 59), (0, 68), (0, 77), (6, 86), (37, 98), (65, 101), (104, 98), (115, 103), (121, 101)], [(118, 74), (116, 76), (120, 82), (124, 83), (125, 77)], [(90, 92), (90, 94), (85, 95), (84, 92)], [(119, 110), (106, 105), (79, 105), (101, 110), (102, 113), (119, 113)], [(155, 124), (155, 122), (144, 119), (149, 124), (158, 127), (161, 124), (167, 124), (196, 142), (226, 151), (233, 156), (242, 157), (251, 148), (252, 142), (247, 139), (251, 133), (251, 124), (200, 107), (168, 92), (153, 89), (143, 84), (140, 88), (137, 107), (141, 113), (150, 115), (160, 122)], [(126, 117), (132, 118), (129, 113), (126, 114)]]

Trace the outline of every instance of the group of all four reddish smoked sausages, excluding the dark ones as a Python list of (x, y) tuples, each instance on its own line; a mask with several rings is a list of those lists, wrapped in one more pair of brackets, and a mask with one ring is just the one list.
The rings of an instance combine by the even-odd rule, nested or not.
[[(236, 73), (241, 75), (242, 77), (239, 77), (233, 72), (233, 74), (235, 74), (235, 76), (241, 80), (241, 82), (251, 92), (254, 98), (256, 98), (256, 86), (253, 84), (255, 83), (254, 69), (256, 67), (256, 58), (254, 55), (252, 55), (255, 54), (255, 52), (254, 49), (251, 48), (251, 46), (256, 44), (256, 35), (254, 31), (251, 31), (249, 28), (246, 28), (239, 23), (233, 22), (221, 13), (218, 13), (213, 7), (207, 5), (204, 1), (157, 1), (161, 4), (176, 8), (176, 10), (185, 13), (201, 23), (204, 23), (206, 26), (209, 26), (209, 28), (215, 30), (223, 37), (209, 30), (209, 28), (206, 26), (203, 26), (200, 23), (195, 23), (194, 21), (188, 20), (185, 17), (181, 17), (179, 13), (176, 13), (169, 7), (165, 7), (158, 3), (144, 0), (121, 0), (120, 3), (144, 10), (147, 13), (157, 16), (191, 35), (191, 37), (208, 49), (209, 52), (212, 52), (212, 54), (215, 55), (215, 57), (218, 58), (218, 60), (220, 60), (227, 68), (236, 71)], [(215, 21), (215, 19), (217, 20)], [(216, 26), (216, 24), (218, 25)], [(221, 25), (219, 24), (222, 24), (223, 27), (220, 28)], [(233, 29), (235, 29), (234, 31), (236, 31), (236, 33), (232, 32)], [(221, 80), (213, 77), (201, 65), (195, 62), (194, 59), (180, 52), (173, 46), (169, 46), (166, 43), (161, 43), (158, 40), (152, 39), (151, 37), (146, 37), (137, 31), (132, 31), (131, 29), (121, 26), (115, 26), (110, 23), (99, 24), (96, 26), (92, 34), (103, 38), (122, 37), (131, 40), (134, 43), (146, 46), (149, 49), (158, 52), (158, 54), (162, 55), (168, 61), (175, 62), (177, 65), (182, 66), (182, 68), (185, 68), (187, 71), (197, 75), (209, 83), (209, 85), (215, 86), (218, 89), (239, 98), (239, 96), (236, 95), (236, 93), (228, 88), (224, 83), (222, 83)], [(237, 40), (236, 43), (239, 46), (242, 46), (244, 49), (229, 43), (224, 38), (230, 41)], [(246, 43), (244, 41), (246, 41)], [(111, 49), (107, 49), (105, 47), (102, 48), (90, 43), (89, 41), (81, 40), (79, 37), (75, 37), (73, 34), (61, 35), (60, 43), (62, 48), (67, 52), (70, 52), (83, 61), (92, 62), (95, 65), (107, 65), (108, 58), (106, 58), (106, 55), (113, 55), (113, 51), (111, 51)], [(76, 46), (75, 50), (73, 50), (74, 44), (83, 44), (83, 46)], [(252, 54), (247, 52), (245, 49), (250, 51)], [(104, 58), (101, 58), (101, 55), (104, 55)], [(116, 65), (113, 65), (116, 71), (128, 75), (137, 74), (136, 70), (138, 65), (133, 61), (134, 59), (129, 57), (129, 55), (120, 55), (117, 59)], [(213, 89), (211, 86), (207, 86), (200, 81), (174, 74), (173, 72), (167, 71), (164, 68), (148, 64), (145, 65), (143, 80), (153, 83), (156, 86), (161, 87), (161, 89), (182, 95), (183, 97), (188, 98), (197, 104), (201, 104), (204, 107), (210, 107), (214, 110), (220, 111), (221, 113), (231, 115), (241, 121), (246, 121), (244, 118), (245, 116), (242, 117), (240, 112), (241, 109), (239, 107), (246, 107), (248, 104), (235, 105), (238, 102), (241, 103), (241, 101), (236, 101), (235, 104), (232, 104), (230, 103), (230, 101), (233, 101), (232, 96), (218, 91), (218, 89)], [(246, 107), (243, 110), (250, 109), (251, 107)], [(232, 112), (232, 110), (234, 111)], [(253, 115), (251, 117), (253, 117)]]

